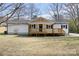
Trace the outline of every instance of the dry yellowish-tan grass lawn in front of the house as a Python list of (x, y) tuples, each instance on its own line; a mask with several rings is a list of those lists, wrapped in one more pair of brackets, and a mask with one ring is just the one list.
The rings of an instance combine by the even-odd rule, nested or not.
[(79, 55), (79, 37), (0, 35), (0, 55)]

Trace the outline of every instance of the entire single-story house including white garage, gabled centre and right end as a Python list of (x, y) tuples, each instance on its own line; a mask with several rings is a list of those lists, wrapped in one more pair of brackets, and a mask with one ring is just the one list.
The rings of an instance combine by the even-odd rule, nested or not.
[(54, 22), (42, 17), (33, 20), (9, 20), (7, 22), (8, 34), (28, 35), (65, 35), (68, 34), (68, 23)]

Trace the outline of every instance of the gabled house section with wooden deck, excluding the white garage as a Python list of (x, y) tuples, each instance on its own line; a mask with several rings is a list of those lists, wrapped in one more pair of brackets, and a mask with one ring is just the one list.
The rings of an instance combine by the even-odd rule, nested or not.
[(68, 23), (54, 22), (45, 18), (39, 17), (29, 23), (29, 34), (51, 34), (51, 35), (67, 35)]

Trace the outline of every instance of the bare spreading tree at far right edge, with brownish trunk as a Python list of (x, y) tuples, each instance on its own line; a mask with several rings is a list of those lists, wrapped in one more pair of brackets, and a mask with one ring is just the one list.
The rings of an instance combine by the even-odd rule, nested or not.
[(78, 3), (68, 3), (64, 4), (64, 10), (66, 11), (66, 15), (73, 20), (76, 32), (79, 32), (79, 4)]

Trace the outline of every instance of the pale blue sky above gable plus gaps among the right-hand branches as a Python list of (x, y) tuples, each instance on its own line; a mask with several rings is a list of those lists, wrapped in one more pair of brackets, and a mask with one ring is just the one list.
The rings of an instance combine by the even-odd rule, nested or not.
[[(63, 4), (63, 3), (59, 3), (59, 7), (61, 6), (61, 4)], [(49, 10), (49, 6), (50, 5), (50, 3), (38, 3), (38, 4), (36, 4), (36, 7), (38, 7), (39, 9), (40, 9), (40, 11), (41, 11), (41, 15), (40, 16), (42, 16), (42, 17), (45, 17), (45, 18), (47, 18), (47, 19), (52, 19), (51, 18), (51, 16), (50, 16), (50, 14), (49, 14), (49, 11), (53, 14), (53, 12), (51, 11), (51, 10)], [(52, 6), (54, 9), (55, 9), (55, 7), (54, 6)], [(63, 7), (63, 6), (62, 6)], [(63, 15), (64, 13), (65, 13), (66, 11), (64, 11), (63, 9), (61, 10), (61, 15)], [(64, 16), (64, 15), (63, 15)], [(65, 16), (66, 17), (66, 16)]]

